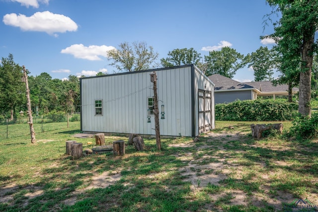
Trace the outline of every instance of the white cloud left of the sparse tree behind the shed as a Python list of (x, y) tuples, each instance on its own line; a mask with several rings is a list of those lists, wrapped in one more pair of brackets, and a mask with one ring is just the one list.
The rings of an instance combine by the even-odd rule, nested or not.
[(61, 53), (71, 54), (75, 58), (86, 59), (89, 61), (100, 61), (100, 56), (107, 57), (106, 52), (114, 49), (112, 46), (84, 46), (83, 44), (74, 44), (66, 49), (62, 49)]

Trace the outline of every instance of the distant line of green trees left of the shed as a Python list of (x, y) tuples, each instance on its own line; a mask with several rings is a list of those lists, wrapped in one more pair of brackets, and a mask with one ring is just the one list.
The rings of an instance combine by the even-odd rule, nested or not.
[[(13, 119), (19, 116), (20, 111), (27, 111), (26, 86), (21, 81), (22, 76), (22, 67), (14, 63), (11, 54), (8, 58), (1, 59), (0, 119)], [(29, 75), (28, 84), (34, 115), (54, 111), (79, 112), (79, 78), (77, 76), (70, 75), (68, 80), (52, 79), (50, 74), (43, 72), (37, 76)]]

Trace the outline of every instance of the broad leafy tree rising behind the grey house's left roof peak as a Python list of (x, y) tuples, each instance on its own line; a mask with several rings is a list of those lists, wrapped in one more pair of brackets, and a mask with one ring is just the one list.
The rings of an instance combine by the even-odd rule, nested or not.
[(233, 78), (235, 73), (246, 65), (244, 55), (230, 47), (223, 47), (220, 51), (209, 52), (205, 56), (205, 61), (208, 64), (207, 76), (219, 73), (223, 76)]

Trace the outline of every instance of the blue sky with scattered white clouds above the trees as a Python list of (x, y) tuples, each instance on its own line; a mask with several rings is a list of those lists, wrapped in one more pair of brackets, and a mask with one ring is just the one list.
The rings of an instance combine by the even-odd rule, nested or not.
[[(114, 73), (106, 51), (120, 43), (146, 42), (160, 58), (177, 48), (209, 50), (231, 46), (248, 54), (260, 46), (265, 0), (0, 0), (0, 58), (12, 54), (30, 75), (52, 78)], [(234, 79), (253, 80), (239, 70)]]

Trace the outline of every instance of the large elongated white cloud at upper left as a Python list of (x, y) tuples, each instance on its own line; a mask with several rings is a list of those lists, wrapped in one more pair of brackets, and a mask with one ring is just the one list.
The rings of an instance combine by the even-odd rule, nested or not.
[(20, 27), (23, 31), (46, 32), (54, 35), (57, 32), (76, 31), (78, 25), (70, 18), (61, 14), (54, 14), (50, 11), (36, 12), (27, 17), (23, 14), (10, 13), (3, 16), (3, 23)]

